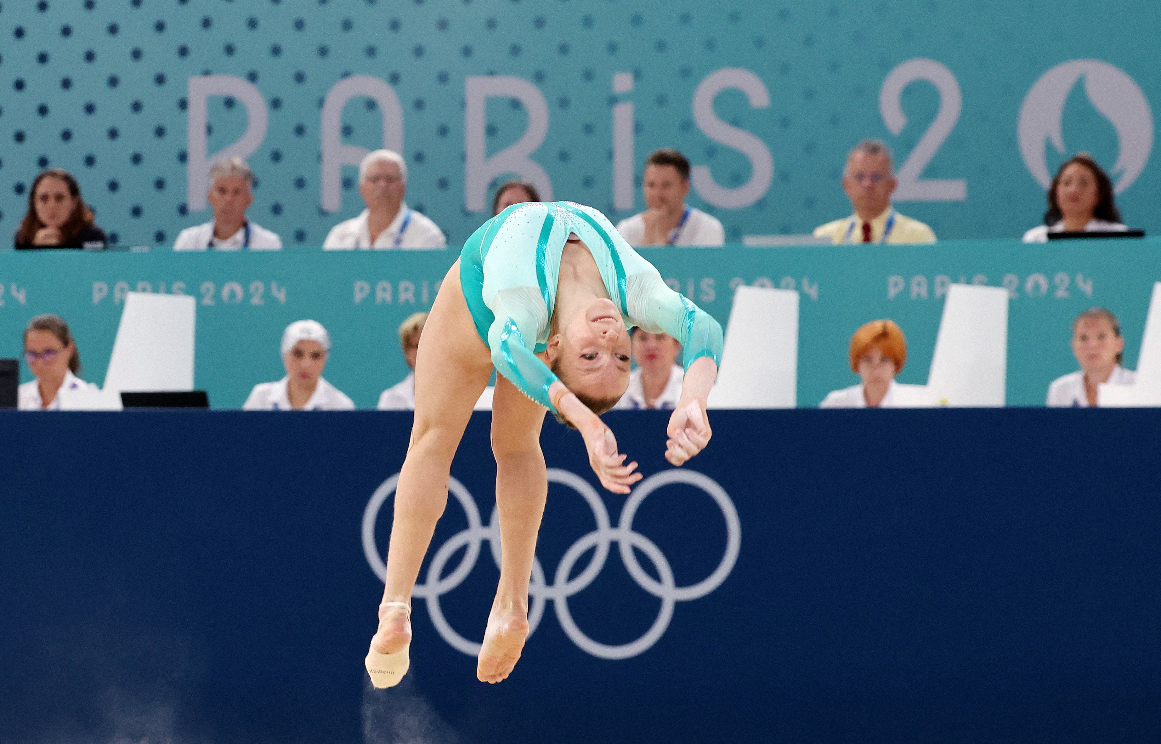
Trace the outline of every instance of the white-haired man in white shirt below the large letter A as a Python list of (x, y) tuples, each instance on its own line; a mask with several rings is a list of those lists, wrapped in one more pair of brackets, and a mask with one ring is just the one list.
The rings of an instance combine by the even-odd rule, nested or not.
[(367, 209), (331, 227), (323, 248), (444, 248), (447, 238), (434, 222), (409, 209), (408, 164), (391, 150), (375, 150), (359, 164), (359, 194)]

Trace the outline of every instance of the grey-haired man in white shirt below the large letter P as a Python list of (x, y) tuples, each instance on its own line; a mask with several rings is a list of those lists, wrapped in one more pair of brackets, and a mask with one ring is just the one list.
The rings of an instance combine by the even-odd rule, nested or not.
[(204, 225), (186, 227), (173, 244), (174, 251), (277, 251), (282, 239), (246, 219), (254, 203), (254, 173), (241, 158), (218, 160), (210, 168), (210, 192), (214, 219)]

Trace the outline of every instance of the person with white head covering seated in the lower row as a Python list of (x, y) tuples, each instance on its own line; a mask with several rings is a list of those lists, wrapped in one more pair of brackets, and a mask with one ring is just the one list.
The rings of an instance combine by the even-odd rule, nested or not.
[(254, 385), (244, 411), (349, 411), (355, 407), (334, 385), (323, 380), (331, 353), (331, 335), (315, 320), (295, 320), (282, 334), (282, 363), (287, 376)]

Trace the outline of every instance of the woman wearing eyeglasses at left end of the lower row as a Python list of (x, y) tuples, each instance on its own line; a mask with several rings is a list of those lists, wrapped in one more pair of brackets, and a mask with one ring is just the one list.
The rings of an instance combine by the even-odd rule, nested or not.
[(36, 380), (17, 389), (16, 407), (21, 411), (59, 411), (62, 390), (96, 389), (77, 376), (80, 354), (68, 324), (60, 316), (36, 316), (28, 322), (24, 361)]

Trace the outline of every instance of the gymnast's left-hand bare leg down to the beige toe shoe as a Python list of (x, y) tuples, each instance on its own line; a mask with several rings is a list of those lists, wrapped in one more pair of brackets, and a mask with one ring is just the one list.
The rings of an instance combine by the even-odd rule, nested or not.
[[(463, 299), (460, 262), (456, 261), (444, 277), (419, 338), (416, 417), (395, 492), (384, 604), (411, 605), (419, 566), (435, 522), (447, 506), (452, 457), (491, 371), (491, 354), (476, 333)], [(378, 653), (395, 653), (410, 642), (411, 623), (406, 609), (399, 605), (381, 607), (372, 649)]]

